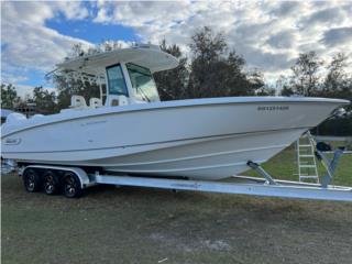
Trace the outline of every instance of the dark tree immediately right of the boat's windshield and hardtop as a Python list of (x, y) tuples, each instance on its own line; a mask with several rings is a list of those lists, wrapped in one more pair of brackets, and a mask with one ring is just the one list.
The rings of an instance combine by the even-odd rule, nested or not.
[(187, 57), (185, 57), (177, 45), (168, 46), (163, 40), (161, 50), (178, 58), (178, 67), (175, 69), (158, 72), (154, 74), (156, 87), (162, 100), (177, 100), (187, 98), (187, 81), (189, 73), (187, 69)]

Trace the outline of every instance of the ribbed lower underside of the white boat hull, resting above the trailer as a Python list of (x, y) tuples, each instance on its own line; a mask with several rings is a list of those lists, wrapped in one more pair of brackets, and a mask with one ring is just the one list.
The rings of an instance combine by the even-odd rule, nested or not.
[(154, 150), (92, 161), (107, 170), (129, 174), (221, 179), (248, 170), (289, 146), (305, 130), (268, 131), (160, 144)]

